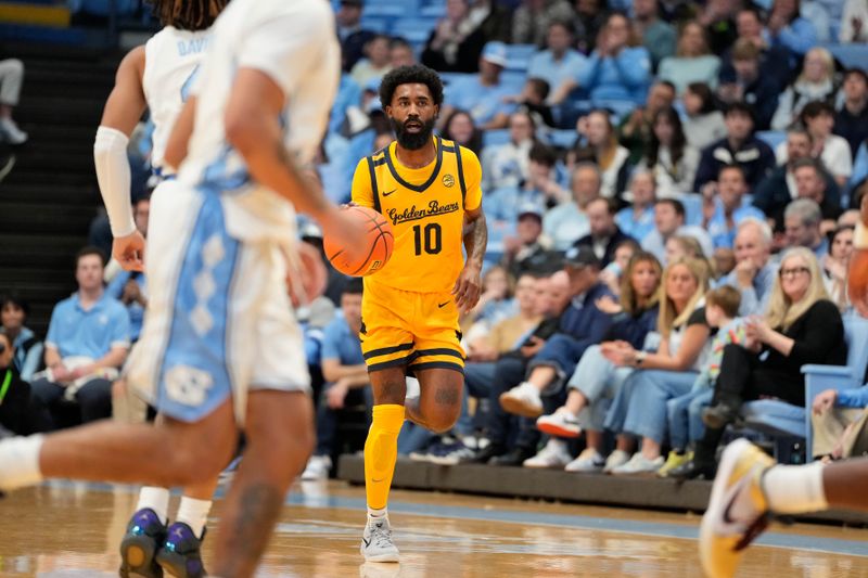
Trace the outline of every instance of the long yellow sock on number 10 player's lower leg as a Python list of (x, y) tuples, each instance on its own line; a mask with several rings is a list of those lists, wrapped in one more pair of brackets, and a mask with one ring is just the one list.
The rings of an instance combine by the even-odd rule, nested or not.
[(365, 491), (371, 510), (383, 510), (388, 502), (401, 425), (404, 406), (373, 407), (373, 421), (365, 441)]

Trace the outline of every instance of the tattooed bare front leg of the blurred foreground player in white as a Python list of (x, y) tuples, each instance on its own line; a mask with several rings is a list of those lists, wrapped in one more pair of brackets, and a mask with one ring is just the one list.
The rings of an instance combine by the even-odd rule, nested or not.
[(314, 451), (314, 406), (304, 391), (255, 389), (247, 446), (227, 494), (214, 547), (215, 576), (253, 576), (292, 480)]

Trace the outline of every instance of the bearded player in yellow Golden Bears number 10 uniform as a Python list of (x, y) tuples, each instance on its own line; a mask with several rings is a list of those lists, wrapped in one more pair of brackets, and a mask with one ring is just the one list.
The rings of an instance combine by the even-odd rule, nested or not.
[[(397, 141), (362, 158), (353, 178), (353, 202), (383, 214), (395, 234), (390, 261), (365, 278), (361, 303), (361, 349), (374, 399), (361, 554), (397, 562), (386, 501), (398, 432), (405, 418), (434, 432), (458, 419), (464, 384), (458, 316), (480, 298), (487, 232), (476, 155), (433, 136), (443, 102), (437, 74), (419, 65), (396, 68), (380, 85), (380, 102)], [(409, 372), (421, 393), (405, 403)]]

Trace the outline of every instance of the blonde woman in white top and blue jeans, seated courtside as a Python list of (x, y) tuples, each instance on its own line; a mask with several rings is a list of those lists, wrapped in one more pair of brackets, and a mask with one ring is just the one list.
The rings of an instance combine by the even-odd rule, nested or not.
[[(690, 390), (710, 352), (711, 329), (703, 307), (710, 278), (711, 268), (701, 259), (679, 259), (666, 268), (661, 285), (656, 352), (624, 342), (603, 345), (602, 352), (609, 361), (634, 369), (605, 416), (605, 428), (617, 436), (616, 457), (607, 461), (607, 472), (650, 473), (663, 465), (666, 402)], [(627, 451), (635, 437), (642, 439), (641, 451), (629, 458)]]

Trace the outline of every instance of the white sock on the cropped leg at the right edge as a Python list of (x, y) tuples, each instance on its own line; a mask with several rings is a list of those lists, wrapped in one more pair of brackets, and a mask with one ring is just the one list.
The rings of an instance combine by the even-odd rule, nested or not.
[(768, 508), (778, 514), (819, 512), (829, 508), (822, 487), (824, 464), (776, 465), (763, 476)]

